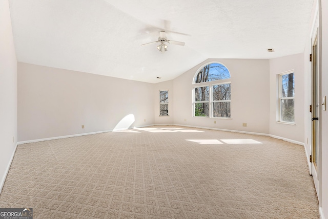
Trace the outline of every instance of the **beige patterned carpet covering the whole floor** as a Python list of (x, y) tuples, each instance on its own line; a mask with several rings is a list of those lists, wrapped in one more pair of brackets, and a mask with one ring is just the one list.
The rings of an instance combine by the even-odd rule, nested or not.
[(320, 218), (300, 145), (186, 127), (133, 131), (19, 145), (0, 207), (33, 208), (34, 218)]

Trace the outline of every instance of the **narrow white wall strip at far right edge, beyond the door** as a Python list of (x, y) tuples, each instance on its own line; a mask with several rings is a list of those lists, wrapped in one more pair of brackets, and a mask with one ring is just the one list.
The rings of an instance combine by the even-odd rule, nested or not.
[[(321, 30), (322, 30), (322, 57), (321, 57), (321, 94), (322, 97), (328, 97), (328, 1), (321, 0)], [(322, 98), (321, 98), (322, 99)], [(322, 163), (321, 163), (321, 191), (322, 191), (322, 213), (325, 218), (328, 218), (328, 111), (321, 113), (321, 128), (322, 128)]]

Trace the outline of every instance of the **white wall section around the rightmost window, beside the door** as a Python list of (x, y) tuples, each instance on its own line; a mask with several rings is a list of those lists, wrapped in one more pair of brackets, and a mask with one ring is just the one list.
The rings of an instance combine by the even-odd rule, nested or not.
[[(295, 75), (295, 125), (277, 123), (277, 76), (294, 70)], [(304, 142), (304, 54), (270, 59), (270, 134)]]

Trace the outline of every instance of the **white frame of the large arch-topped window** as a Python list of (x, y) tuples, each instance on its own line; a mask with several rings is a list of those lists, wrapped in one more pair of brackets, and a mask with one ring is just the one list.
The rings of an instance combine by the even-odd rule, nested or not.
[[(196, 83), (195, 78), (197, 77), (199, 71), (207, 65), (210, 64), (220, 64), (222, 66), (224, 66), (225, 68), (227, 68), (226, 65), (224, 65), (223, 63), (220, 62), (210, 62), (207, 64), (202, 65), (195, 73), (194, 77), (193, 77), (193, 91), (192, 91), (192, 113), (193, 113), (193, 117), (207, 117), (207, 118), (217, 118), (217, 119), (231, 119), (231, 95), (230, 95), (230, 100), (223, 100), (223, 101), (213, 101), (213, 86), (215, 85), (222, 85), (222, 84), (230, 84), (230, 92), (231, 92), (231, 73), (229, 71), (229, 69), (227, 68), (230, 78), (225, 78), (225, 79), (217, 79), (215, 81), (207, 81), (207, 82), (200, 82), (200, 83)], [(199, 87), (209, 87), (209, 101), (196, 101), (196, 94), (195, 94), (195, 88), (199, 88)], [(230, 117), (214, 117), (213, 116), (213, 103), (224, 103), (224, 102), (229, 102), (230, 103)], [(209, 104), (209, 116), (196, 116), (196, 112), (195, 112), (195, 104), (196, 103), (208, 103)]]

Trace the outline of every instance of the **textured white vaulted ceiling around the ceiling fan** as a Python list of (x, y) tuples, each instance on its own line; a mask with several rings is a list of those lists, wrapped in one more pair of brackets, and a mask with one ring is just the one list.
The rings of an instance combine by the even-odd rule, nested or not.
[[(18, 62), (150, 83), (173, 79), (207, 58), (301, 53), (313, 5), (313, 0), (9, 2)], [(140, 46), (156, 41), (162, 29), (186, 46), (169, 44), (165, 53), (156, 44)]]

